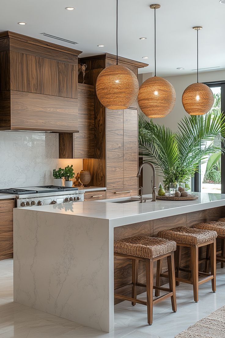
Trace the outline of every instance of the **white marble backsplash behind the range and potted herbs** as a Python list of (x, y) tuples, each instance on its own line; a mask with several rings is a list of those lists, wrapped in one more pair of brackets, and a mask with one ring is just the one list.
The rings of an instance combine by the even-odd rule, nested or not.
[(82, 159), (58, 159), (58, 134), (0, 131), (0, 188), (53, 184), (53, 169), (71, 164), (82, 170)]

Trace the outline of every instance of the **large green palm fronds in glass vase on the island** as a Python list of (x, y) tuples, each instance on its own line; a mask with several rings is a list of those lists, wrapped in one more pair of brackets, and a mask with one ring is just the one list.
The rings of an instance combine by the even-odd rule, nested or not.
[[(194, 176), (208, 155), (221, 153), (225, 140), (225, 117), (221, 113), (184, 117), (178, 128), (173, 132), (143, 115), (139, 118), (139, 153), (159, 168), (167, 190), (170, 183)], [(214, 144), (215, 137), (219, 144)]]

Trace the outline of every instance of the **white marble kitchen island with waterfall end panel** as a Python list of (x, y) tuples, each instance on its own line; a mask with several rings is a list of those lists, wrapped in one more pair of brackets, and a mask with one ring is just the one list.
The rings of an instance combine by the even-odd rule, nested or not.
[(145, 224), (155, 236), (160, 219), (168, 218), (163, 222), (168, 228), (176, 226), (175, 219), (192, 226), (197, 215), (201, 220), (224, 216), (224, 206), (225, 194), (201, 193), (194, 201), (86, 201), (14, 209), (14, 300), (111, 332), (114, 229), (124, 226), (127, 232), (132, 225), (138, 233)]

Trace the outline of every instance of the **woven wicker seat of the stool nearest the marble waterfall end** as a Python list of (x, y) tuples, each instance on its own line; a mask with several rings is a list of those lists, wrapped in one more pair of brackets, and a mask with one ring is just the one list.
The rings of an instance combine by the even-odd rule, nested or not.
[(157, 237), (134, 236), (114, 242), (114, 252), (118, 254), (149, 259), (175, 250), (175, 242)]

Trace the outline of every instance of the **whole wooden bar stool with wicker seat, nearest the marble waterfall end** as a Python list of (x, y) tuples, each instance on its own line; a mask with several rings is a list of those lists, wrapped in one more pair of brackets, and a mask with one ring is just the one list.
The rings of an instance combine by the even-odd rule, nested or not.
[[(126, 297), (114, 293), (114, 297), (132, 302), (132, 305), (142, 304), (147, 306), (148, 324), (152, 324), (153, 305), (171, 297), (172, 310), (176, 312), (175, 291), (175, 267), (174, 251), (176, 243), (162, 238), (134, 236), (120, 239), (114, 242), (114, 255), (132, 259), (132, 297)], [(153, 262), (167, 257), (169, 288), (153, 286)], [(138, 283), (138, 262), (146, 262), (146, 284)], [(126, 285), (124, 285), (126, 286)], [(122, 287), (124, 287), (122, 286)], [(146, 287), (147, 301), (137, 299), (137, 286)], [(120, 288), (122, 288), (120, 287)], [(118, 290), (117, 288), (115, 290)], [(168, 292), (167, 294), (153, 300), (153, 289)], [(114, 290), (114, 291), (115, 291)]]

